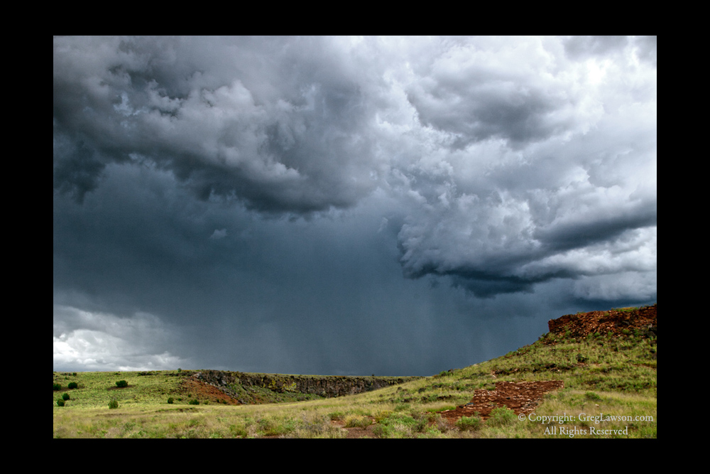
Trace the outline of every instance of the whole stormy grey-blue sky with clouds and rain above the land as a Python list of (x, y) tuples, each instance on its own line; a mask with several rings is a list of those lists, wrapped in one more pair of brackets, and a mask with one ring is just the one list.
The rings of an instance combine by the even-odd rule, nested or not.
[(432, 375), (656, 301), (656, 38), (55, 37), (54, 370)]

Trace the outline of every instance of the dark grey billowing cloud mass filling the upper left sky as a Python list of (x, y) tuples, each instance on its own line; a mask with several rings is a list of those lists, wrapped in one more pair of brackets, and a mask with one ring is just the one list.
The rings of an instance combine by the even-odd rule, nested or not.
[[(55, 38), (55, 136), (104, 162), (148, 158), (202, 199), (347, 207), (373, 188), (357, 66), (317, 38)], [(55, 163), (82, 164), (57, 146)], [(92, 189), (90, 171), (74, 186)]]

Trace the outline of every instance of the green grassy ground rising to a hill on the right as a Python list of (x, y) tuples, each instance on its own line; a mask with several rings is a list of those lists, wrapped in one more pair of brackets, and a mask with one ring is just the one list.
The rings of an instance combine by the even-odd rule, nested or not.
[[(373, 392), (239, 406), (209, 397), (190, 404), (180, 383), (189, 371), (55, 372), (62, 390), (54, 400), (70, 399), (54, 404), (54, 437), (655, 438), (656, 356), (655, 330), (547, 333), (496, 359)], [(128, 387), (111, 388), (121, 379)], [(562, 388), (527, 412), (506, 409), (503, 397), (486, 414), (453, 416), (500, 392), (499, 382), (550, 380)], [(79, 388), (67, 389), (72, 381)], [(109, 409), (111, 398), (118, 408)]]

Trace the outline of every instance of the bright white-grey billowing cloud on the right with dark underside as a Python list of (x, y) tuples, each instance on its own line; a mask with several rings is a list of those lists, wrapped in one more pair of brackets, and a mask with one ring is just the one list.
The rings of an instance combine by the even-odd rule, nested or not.
[(403, 168), (418, 204), (400, 231), (406, 275), (494, 296), (655, 272), (655, 69), (635, 40), (571, 41), (572, 61), (547, 40), (471, 41), (415, 79), (408, 97), (442, 146)]

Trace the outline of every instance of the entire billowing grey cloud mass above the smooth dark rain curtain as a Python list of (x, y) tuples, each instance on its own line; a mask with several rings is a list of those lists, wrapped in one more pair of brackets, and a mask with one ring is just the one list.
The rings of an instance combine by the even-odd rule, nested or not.
[(574, 275), (526, 265), (655, 224), (655, 198), (620, 174), (655, 171), (655, 122), (628, 125), (655, 114), (655, 70), (619, 59), (636, 43), (57, 38), (55, 189), (81, 201), (111, 161), (271, 212), (348, 208), (379, 186), (417, 197), (405, 274), (528, 291)]

